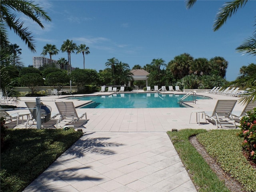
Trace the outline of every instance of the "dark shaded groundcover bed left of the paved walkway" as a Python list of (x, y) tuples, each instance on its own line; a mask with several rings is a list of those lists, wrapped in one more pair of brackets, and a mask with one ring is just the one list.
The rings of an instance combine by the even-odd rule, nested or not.
[(1, 191), (19, 192), (81, 136), (73, 129), (6, 129), (1, 153)]

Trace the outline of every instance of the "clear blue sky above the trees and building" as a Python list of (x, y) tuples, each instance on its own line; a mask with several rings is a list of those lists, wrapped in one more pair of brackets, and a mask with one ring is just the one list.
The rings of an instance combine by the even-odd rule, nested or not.
[[(43, 22), (42, 30), (28, 18), (20, 19), (32, 31), (37, 52), (28, 50), (13, 31), (9, 32), (9, 40), (22, 48), (24, 66), (32, 65), (32, 57), (40, 56), (46, 44), (54, 44), (60, 50), (63, 42), (70, 39), (90, 48), (85, 68), (103, 70), (113, 57), (130, 68), (150, 64), (154, 58), (162, 58), (168, 64), (175, 56), (188, 53), (194, 58), (223, 57), (228, 61), (226, 78), (234, 80), (241, 66), (255, 63), (255, 57), (236, 52), (236, 47), (255, 30), (256, 1), (249, 1), (213, 32), (216, 14), (227, 1), (198, 0), (190, 10), (184, 0), (36, 1), (52, 22)], [(60, 51), (52, 59), (62, 57), (67, 59), (68, 54)], [(71, 54), (71, 64), (83, 68), (82, 54)]]

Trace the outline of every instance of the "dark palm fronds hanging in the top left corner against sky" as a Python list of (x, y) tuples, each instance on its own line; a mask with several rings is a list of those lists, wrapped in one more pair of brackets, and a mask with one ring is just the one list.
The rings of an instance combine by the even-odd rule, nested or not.
[(24, 27), (24, 21), (20, 18), (16, 18), (16, 12), (22, 13), (25, 16), (31, 18), (36, 24), (42, 29), (44, 26), (41, 22), (41, 18), (46, 21), (51, 21), (51, 18), (47, 16), (47, 13), (42, 10), (38, 4), (34, 4), (32, 1), (27, 0), (16, 0), (16, 1), (0, 1), (0, 34), (1, 34), (1, 45), (6, 44), (8, 41), (7, 28), (13, 30), (27, 45), (32, 52), (36, 52), (34, 44), (34, 37), (31, 32), (28, 31), (27, 27)]

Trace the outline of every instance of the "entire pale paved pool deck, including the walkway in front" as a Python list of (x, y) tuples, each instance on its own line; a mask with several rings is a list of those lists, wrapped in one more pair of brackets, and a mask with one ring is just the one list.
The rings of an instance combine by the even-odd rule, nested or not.
[[(98, 94), (112, 93), (90, 95)], [(215, 125), (204, 119), (198, 125), (196, 113), (192, 112), (211, 111), (219, 99), (238, 99), (208, 93), (198, 95), (210, 96), (212, 99), (190, 103), (193, 108), (77, 108), (78, 113), (86, 112), (90, 119), (83, 128), (84, 136), (24, 191), (196, 192), (166, 131), (216, 129)], [(51, 106), (52, 114), (55, 114), (58, 110), (52, 100), (67, 101), (64, 97), (47, 96), (41, 100)], [(19, 106), (25, 107), (24, 100), (32, 98), (20, 99)], [(75, 106), (85, 102), (72, 101)], [(242, 109), (239, 103), (234, 108)]]

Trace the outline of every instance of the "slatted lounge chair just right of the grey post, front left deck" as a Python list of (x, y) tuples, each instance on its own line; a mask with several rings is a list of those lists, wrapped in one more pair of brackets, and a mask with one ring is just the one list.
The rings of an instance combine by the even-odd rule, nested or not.
[(60, 114), (60, 118), (57, 121), (56, 128), (58, 128), (58, 124), (60, 124), (61, 122), (64, 122), (64, 126), (66, 124), (74, 123), (75, 128), (75, 122), (79, 121), (84, 116), (86, 118), (86, 120), (84, 120), (84, 124), (88, 122), (86, 113), (78, 116), (73, 102), (55, 102), (55, 104)]

